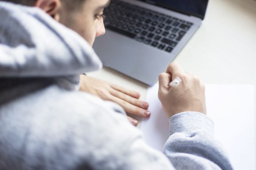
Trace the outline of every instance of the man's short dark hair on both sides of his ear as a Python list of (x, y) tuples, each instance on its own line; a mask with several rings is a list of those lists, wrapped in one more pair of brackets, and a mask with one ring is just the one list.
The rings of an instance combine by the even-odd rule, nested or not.
[[(35, 5), (37, 0), (2, 0), (6, 2), (17, 3), (20, 5), (33, 6)], [(61, 0), (68, 6), (70, 9), (77, 9), (81, 6), (81, 3), (85, 2), (85, 0)]]

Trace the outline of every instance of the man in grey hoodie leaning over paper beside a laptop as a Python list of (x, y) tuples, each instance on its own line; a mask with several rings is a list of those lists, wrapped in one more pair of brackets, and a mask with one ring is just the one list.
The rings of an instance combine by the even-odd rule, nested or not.
[[(102, 66), (91, 46), (105, 32), (108, 0), (9, 2), (36, 8), (0, 2), (1, 170), (232, 169), (205, 115), (204, 85), (176, 63), (159, 76), (170, 118), (164, 154), (145, 144), (121, 107), (75, 91), (81, 73)], [(169, 87), (175, 77), (181, 84)]]

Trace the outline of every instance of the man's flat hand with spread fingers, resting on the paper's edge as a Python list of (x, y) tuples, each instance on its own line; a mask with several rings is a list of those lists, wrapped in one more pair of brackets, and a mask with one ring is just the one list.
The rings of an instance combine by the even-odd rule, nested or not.
[[(135, 116), (149, 117), (150, 112), (147, 110), (149, 104), (139, 100), (140, 94), (127, 90), (126, 88), (108, 83), (86, 75), (80, 76), (80, 90), (100, 97), (103, 100), (110, 100), (121, 105), (124, 110)], [(138, 121), (128, 116), (129, 121), (133, 125), (137, 125)]]

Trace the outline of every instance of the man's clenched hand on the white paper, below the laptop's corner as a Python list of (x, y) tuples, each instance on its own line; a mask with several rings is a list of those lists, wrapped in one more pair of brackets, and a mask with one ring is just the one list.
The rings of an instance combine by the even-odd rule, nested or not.
[[(169, 83), (176, 77), (182, 82), (176, 87), (169, 87)], [(158, 97), (169, 118), (184, 111), (206, 114), (204, 91), (204, 84), (197, 77), (185, 73), (177, 63), (171, 63), (166, 73), (159, 75)]]

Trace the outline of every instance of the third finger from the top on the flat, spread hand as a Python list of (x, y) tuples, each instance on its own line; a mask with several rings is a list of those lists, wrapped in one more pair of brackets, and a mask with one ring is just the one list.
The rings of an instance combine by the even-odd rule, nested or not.
[(132, 105), (129, 102), (122, 100), (118, 97), (115, 97), (111, 94), (108, 96), (108, 99), (111, 100), (112, 102), (115, 102), (115, 103), (121, 105), (124, 108), (124, 110), (129, 114), (133, 114), (133, 115), (140, 116), (140, 117), (149, 117), (150, 116), (150, 112), (148, 110), (145, 110), (143, 108)]

